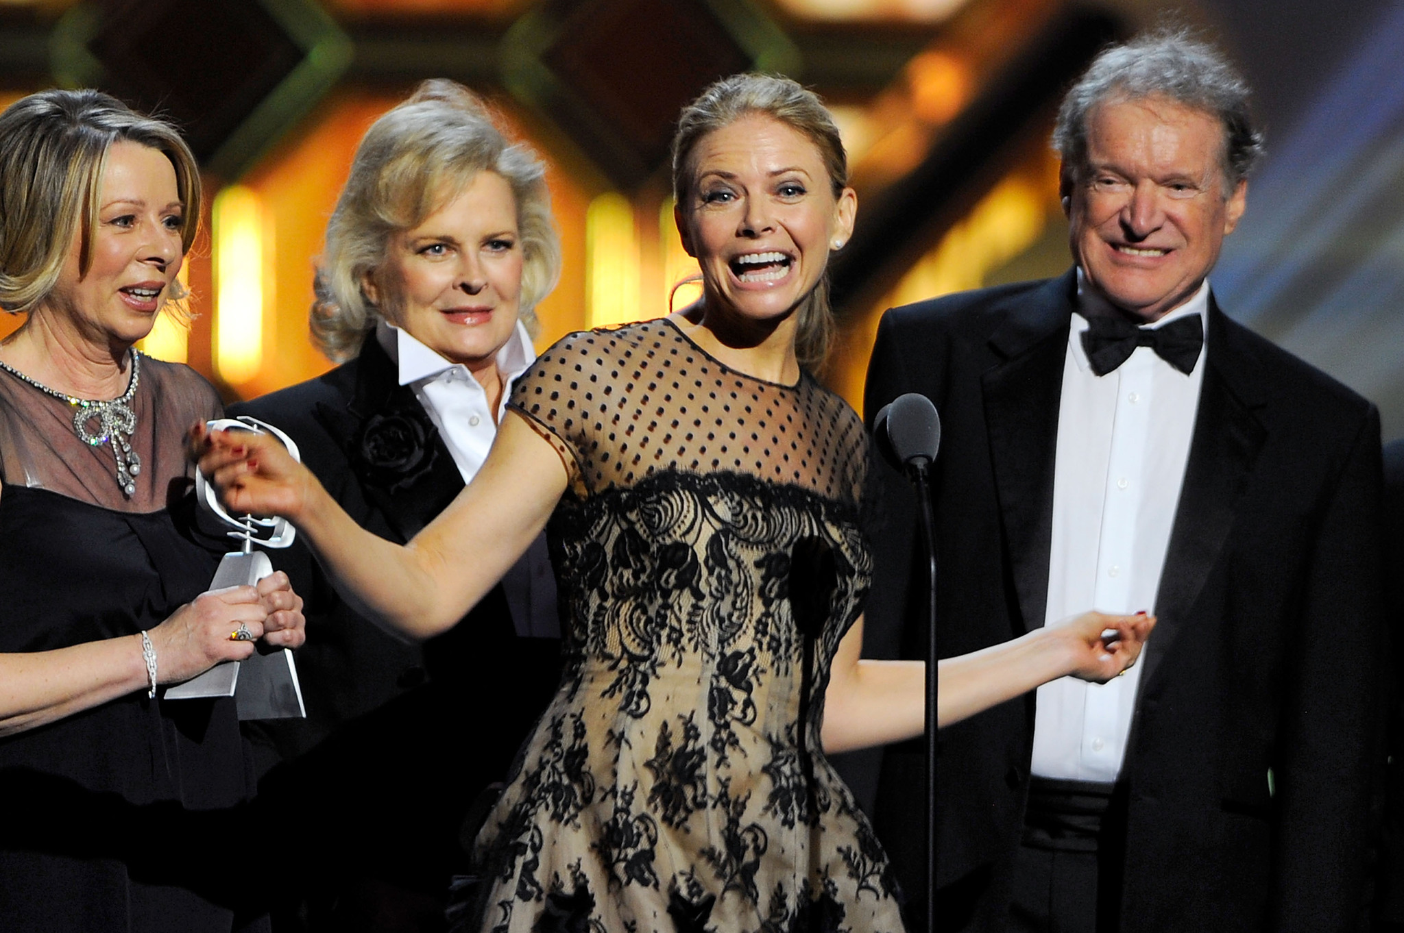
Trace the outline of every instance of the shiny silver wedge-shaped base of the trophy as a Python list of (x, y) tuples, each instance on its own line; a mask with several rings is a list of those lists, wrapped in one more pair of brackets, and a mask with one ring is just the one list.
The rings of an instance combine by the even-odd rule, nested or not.
[[(272, 572), (272, 563), (263, 551), (225, 554), (215, 571), (211, 589), (254, 585)], [(274, 648), (254, 650), (243, 661), (216, 664), (197, 678), (168, 687), (167, 700), (192, 700), (211, 696), (232, 696), (240, 720), (305, 718), (302, 687), (292, 651)]]

